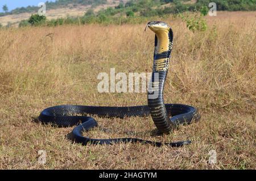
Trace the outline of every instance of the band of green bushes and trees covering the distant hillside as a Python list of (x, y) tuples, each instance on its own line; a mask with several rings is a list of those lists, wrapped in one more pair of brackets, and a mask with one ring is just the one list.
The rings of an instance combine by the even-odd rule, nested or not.
[[(180, 14), (185, 11), (204, 11), (207, 13), (209, 10), (209, 3), (212, 0), (197, 0), (196, 3), (184, 3), (187, 0), (130, 0), (126, 3), (120, 1), (115, 7), (108, 7), (101, 9), (97, 13), (94, 12), (93, 6), (85, 12), (81, 17), (66, 17), (47, 20), (45, 16), (37, 14), (31, 15), (30, 19), (22, 20), (19, 27), (25, 26), (59, 26), (63, 24), (90, 24), (90, 23), (103, 23), (103, 24), (123, 24), (123, 23), (141, 23), (148, 17), (159, 16), (164, 17), (169, 14)], [(57, 7), (60, 5), (69, 5), (71, 2), (77, 4), (92, 4), (106, 3), (106, 0), (59, 0), (56, 2), (47, 2), (47, 5)], [(217, 10), (228, 11), (255, 11), (256, 0), (214, 0), (217, 5)], [(165, 6), (171, 3), (171, 6)], [(95, 4), (96, 5), (96, 4)], [(36, 7), (38, 9), (38, 7)]]

